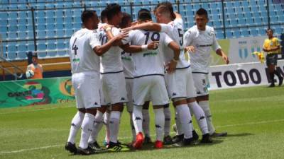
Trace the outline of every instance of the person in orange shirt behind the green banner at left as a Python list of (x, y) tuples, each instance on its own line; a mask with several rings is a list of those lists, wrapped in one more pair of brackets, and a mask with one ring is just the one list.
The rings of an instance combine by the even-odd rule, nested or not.
[(38, 64), (37, 54), (33, 54), (32, 61), (33, 63), (28, 65), (27, 71), (32, 70), (34, 72), (34, 75), (31, 76), (29, 79), (42, 79), (43, 78), (43, 66), (41, 64)]

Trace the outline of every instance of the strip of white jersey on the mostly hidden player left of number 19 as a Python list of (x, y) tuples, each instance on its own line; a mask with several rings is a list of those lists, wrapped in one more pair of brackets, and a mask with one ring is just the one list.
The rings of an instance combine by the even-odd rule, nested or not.
[(133, 59), (132, 54), (128, 52), (121, 52), (122, 63), (124, 64), (124, 76), (125, 78), (133, 78)]

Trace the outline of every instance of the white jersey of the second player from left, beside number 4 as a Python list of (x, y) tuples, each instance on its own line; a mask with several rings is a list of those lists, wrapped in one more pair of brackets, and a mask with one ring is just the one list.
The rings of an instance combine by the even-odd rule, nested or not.
[[(120, 30), (118, 28), (111, 28), (111, 32), (114, 36), (119, 35)], [(99, 29), (99, 41), (101, 45), (107, 43), (107, 33), (104, 29)], [(111, 47), (106, 53), (101, 57), (101, 73), (114, 73), (123, 71), (122, 61), (121, 61), (122, 49), (118, 46)]]

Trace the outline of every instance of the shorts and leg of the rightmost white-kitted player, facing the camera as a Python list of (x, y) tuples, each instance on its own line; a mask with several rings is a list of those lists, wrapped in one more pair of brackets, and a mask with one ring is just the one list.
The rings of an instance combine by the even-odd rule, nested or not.
[(216, 132), (212, 122), (212, 114), (209, 107), (209, 92), (207, 88), (209, 86), (207, 74), (194, 73), (194, 76), (192, 76), (192, 78), (195, 83), (195, 88), (197, 90), (196, 100), (198, 101), (198, 104), (204, 111), (209, 134), (211, 136), (226, 136), (227, 134), (226, 132)]

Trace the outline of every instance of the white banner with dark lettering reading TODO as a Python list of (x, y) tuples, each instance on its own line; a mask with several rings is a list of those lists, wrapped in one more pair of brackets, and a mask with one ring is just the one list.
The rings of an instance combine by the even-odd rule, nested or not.
[[(279, 60), (277, 65), (276, 69), (284, 76), (284, 60)], [(275, 82), (278, 82), (277, 76), (275, 76)], [(253, 62), (211, 66), (209, 71), (209, 83), (209, 90), (246, 86), (268, 86), (270, 78), (265, 63)]]

